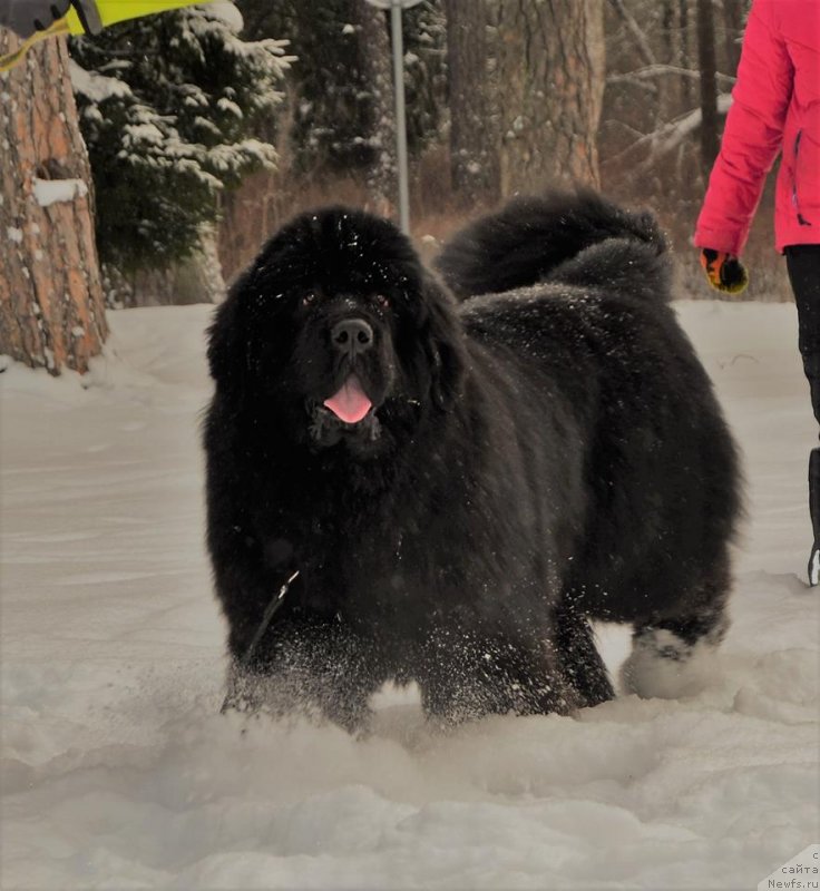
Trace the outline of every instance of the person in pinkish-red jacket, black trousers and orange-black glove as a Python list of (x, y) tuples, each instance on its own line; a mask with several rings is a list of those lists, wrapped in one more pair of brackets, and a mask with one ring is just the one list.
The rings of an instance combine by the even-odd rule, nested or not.
[[(714, 287), (745, 287), (740, 256), (767, 174), (782, 151), (775, 245), (785, 254), (800, 354), (820, 423), (820, 0), (753, 0), (732, 98), (694, 244)], [(820, 448), (809, 460), (809, 582), (818, 585)]]

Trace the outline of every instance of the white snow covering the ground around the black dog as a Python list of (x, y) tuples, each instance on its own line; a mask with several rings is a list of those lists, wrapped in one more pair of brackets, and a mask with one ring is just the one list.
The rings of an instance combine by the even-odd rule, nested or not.
[[(813, 444), (791, 305), (682, 303), (750, 522), (707, 689), (375, 734), (219, 717), (204, 306), (111, 313), (92, 385), (0, 375), (3, 889), (751, 889), (818, 824)], [(115, 354), (116, 351), (116, 354)], [(613, 667), (622, 630), (604, 629)]]

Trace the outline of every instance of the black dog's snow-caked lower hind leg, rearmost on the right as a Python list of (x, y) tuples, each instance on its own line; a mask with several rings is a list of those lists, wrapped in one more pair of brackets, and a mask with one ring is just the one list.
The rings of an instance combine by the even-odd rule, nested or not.
[(624, 691), (672, 699), (706, 687), (718, 672), (718, 646), (729, 628), (728, 594), (728, 578), (719, 572), (680, 615), (636, 623), (632, 654), (621, 669)]

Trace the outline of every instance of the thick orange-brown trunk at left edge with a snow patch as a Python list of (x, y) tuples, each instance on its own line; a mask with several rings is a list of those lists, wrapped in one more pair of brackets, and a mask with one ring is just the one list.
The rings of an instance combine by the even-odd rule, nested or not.
[[(0, 55), (19, 47), (0, 29)], [(0, 353), (85, 372), (108, 333), (64, 39), (0, 75)]]

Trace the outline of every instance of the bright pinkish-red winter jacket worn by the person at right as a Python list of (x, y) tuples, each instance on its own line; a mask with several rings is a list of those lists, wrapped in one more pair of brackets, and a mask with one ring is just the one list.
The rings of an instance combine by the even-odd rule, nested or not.
[(694, 243), (740, 255), (782, 149), (778, 251), (820, 244), (820, 0), (754, 0)]

